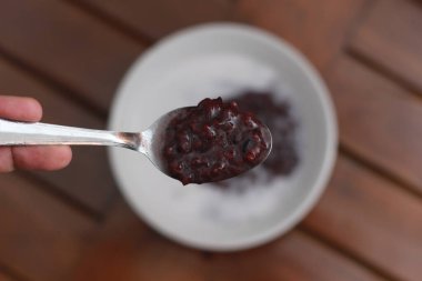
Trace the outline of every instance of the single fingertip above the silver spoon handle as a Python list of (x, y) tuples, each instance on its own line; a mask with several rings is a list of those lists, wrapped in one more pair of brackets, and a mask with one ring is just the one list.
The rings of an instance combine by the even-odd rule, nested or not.
[(37, 122), (41, 117), (42, 108), (36, 99), (0, 96), (0, 118)]

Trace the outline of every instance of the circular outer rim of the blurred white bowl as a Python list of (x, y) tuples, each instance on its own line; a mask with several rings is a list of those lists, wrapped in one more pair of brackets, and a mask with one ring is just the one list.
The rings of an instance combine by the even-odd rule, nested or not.
[(250, 235), (248, 238), (238, 239), (234, 242), (230, 241), (229, 243), (221, 242), (220, 244), (215, 243), (207, 243), (207, 242), (198, 242), (192, 241), (187, 238), (180, 237), (178, 234), (174, 234), (167, 229), (163, 229), (160, 227), (155, 221), (149, 218), (149, 215), (145, 215), (143, 213), (142, 208), (139, 207), (134, 202), (134, 199), (132, 199), (125, 191), (124, 188), (122, 188), (123, 180), (121, 175), (118, 172), (118, 169), (115, 167), (115, 158), (114, 152), (112, 149), (108, 150), (109, 155), (109, 162), (111, 165), (111, 171), (113, 174), (113, 178), (115, 179), (120, 192), (123, 194), (123, 198), (129, 203), (130, 208), (133, 210), (133, 212), (144, 220), (149, 225), (151, 225), (153, 229), (159, 231), (164, 237), (168, 237), (169, 239), (177, 241), (181, 244), (193, 247), (197, 249), (202, 250), (210, 250), (210, 251), (219, 251), (219, 252), (225, 252), (225, 251), (238, 251), (238, 250), (245, 250), (250, 248), (254, 248), (258, 245), (261, 245), (263, 243), (270, 242), (278, 238), (281, 234), (284, 234), (289, 230), (291, 230), (294, 225), (297, 225), (315, 205), (318, 200), (321, 198), (323, 191), (326, 188), (326, 184), (331, 178), (336, 153), (338, 153), (338, 123), (336, 123), (336, 117), (334, 111), (334, 106), (332, 103), (332, 100), (330, 98), (329, 90), (323, 81), (323, 79), (318, 73), (316, 69), (305, 59), (305, 57), (300, 53), (295, 48), (293, 48), (289, 42), (283, 40), (282, 38), (257, 27), (243, 24), (243, 23), (233, 23), (233, 22), (213, 22), (213, 23), (203, 23), (198, 24), (193, 27), (189, 27), (179, 31), (173, 32), (172, 34), (169, 34), (164, 37), (163, 39), (159, 40), (153, 47), (149, 48), (144, 52), (141, 53), (140, 57), (138, 57), (133, 63), (130, 66), (130, 68), (124, 73), (117, 91), (114, 94), (114, 98), (112, 100), (112, 106), (110, 110), (110, 117), (108, 120), (108, 128), (112, 127), (112, 123), (114, 122), (117, 109), (119, 108), (119, 101), (121, 100), (121, 92), (124, 87), (124, 84), (128, 82), (128, 80), (132, 77), (135, 69), (138, 69), (141, 64), (144, 63), (145, 60), (148, 60), (152, 54), (155, 52), (159, 52), (162, 47), (165, 47), (174, 41), (183, 40), (184, 37), (190, 37), (194, 33), (202, 33), (202, 32), (212, 32), (212, 31), (219, 31), (219, 32), (239, 32), (243, 36), (253, 38), (257, 41), (261, 41), (263, 44), (270, 44), (271, 48), (277, 49), (279, 52), (283, 52), (285, 56), (290, 57), (298, 68), (304, 73), (307, 79), (310, 80), (310, 83), (315, 89), (315, 94), (318, 96), (319, 100), (322, 104), (323, 110), (323, 117), (324, 122), (326, 124), (326, 140), (328, 143), (325, 145), (324, 151), (324, 158), (321, 163), (320, 172), (313, 183), (313, 185), (310, 188), (309, 192), (305, 194), (304, 200), (301, 201), (300, 204), (288, 215), (284, 220), (280, 221), (279, 223), (275, 223), (272, 228), (267, 228), (262, 230), (261, 232)]

